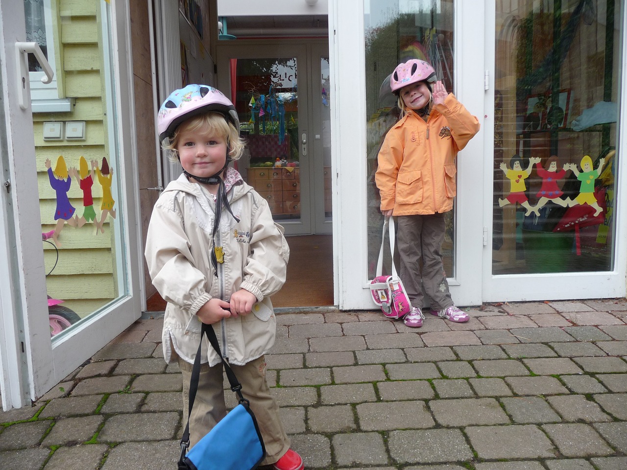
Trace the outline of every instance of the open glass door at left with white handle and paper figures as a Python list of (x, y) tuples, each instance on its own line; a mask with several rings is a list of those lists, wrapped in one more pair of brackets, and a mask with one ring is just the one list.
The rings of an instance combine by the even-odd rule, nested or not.
[[(139, 317), (139, 242), (129, 224), (132, 125), (120, 105), (132, 100), (125, 60), (115, 58), (127, 11), (105, 1), (61, 10), (23, 0), (3, 2), (1, 18), (12, 137), (4, 141), (3, 236), (14, 247), (3, 267), (14, 311), (3, 303), (2, 313), (15, 330), (1, 350), (10, 376), (3, 405), (13, 407), (40, 397)], [(23, 353), (10, 353), (16, 345)], [(5, 387), (16, 393), (5, 397)]]

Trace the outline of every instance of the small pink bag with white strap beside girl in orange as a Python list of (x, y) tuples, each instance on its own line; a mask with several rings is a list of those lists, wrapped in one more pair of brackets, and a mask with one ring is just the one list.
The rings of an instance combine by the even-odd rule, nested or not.
[[(386, 228), (389, 227), (389, 244), (390, 253), (392, 254), (392, 275), (383, 276), (383, 246), (386, 241)], [(383, 234), (381, 239), (381, 249), (379, 250), (379, 261), (377, 262), (377, 273), (374, 279), (370, 281), (370, 291), (374, 303), (381, 307), (383, 315), (387, 318), (403, 318), (411, 311), (411, 303), (401, 278), (396, 274), (396, 266), (394, 266), (394, 239), (396, 233), (394, 231), (394, 221), (390, 221), (386, 217), (383, 223)]]

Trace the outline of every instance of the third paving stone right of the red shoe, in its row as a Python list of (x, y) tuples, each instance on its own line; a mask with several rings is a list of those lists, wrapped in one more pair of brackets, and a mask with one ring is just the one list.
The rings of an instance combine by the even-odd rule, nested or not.
[(391, 431), (387, 446), (390, 456), (399, 464), (460, 462), (473, 457), (459, 429)]

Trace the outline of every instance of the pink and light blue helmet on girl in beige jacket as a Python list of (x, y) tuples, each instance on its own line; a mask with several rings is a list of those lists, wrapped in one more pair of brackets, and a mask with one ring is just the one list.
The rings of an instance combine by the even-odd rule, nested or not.
[(181, 90), (172, 91), (159, 108), (157, 115), (159, 140), (172, 137), (184, 120), (208, 112), (222, 113), (240, 132), (240, 119), (229, 98), (213, 86), (187, 85)]

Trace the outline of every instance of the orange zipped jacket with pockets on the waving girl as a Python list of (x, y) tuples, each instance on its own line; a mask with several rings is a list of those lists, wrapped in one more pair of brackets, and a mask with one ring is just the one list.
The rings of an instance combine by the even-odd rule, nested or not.
[(379, 150), (375, 181), (381, 211), (394, 216), (453, 209), (455, 157), (479, 132), (479, 121), (449, 93), (427, 122), (412, 110), (387, 132)]

